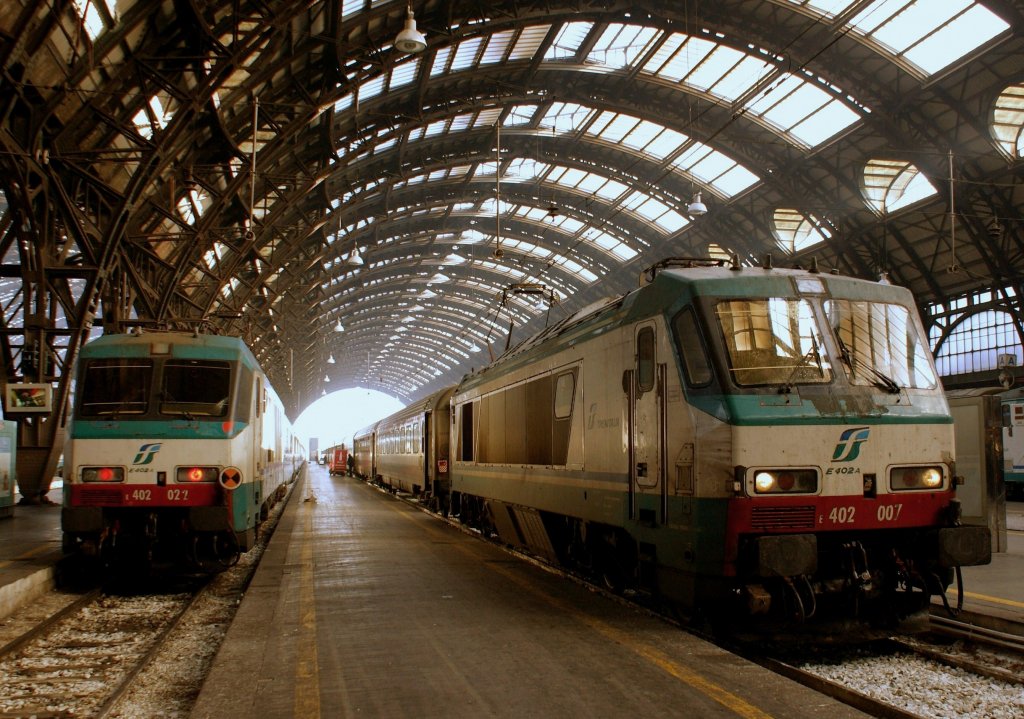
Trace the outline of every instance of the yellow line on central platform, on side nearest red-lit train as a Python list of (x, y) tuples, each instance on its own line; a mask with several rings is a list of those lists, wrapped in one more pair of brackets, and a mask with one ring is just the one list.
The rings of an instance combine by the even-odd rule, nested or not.
[[(310, 481), (309, 475), (305, 477)], [(299, 636), (296, 642), (295, 716), (303, 719), (319, 717), (319, 660), (316, 655), (316, 600), (313, 588), (313, 510), (315, 502), (300, 505), (305, 513), (302, 532), (302, 566), (299, 579)]]

